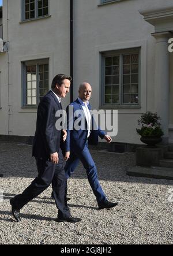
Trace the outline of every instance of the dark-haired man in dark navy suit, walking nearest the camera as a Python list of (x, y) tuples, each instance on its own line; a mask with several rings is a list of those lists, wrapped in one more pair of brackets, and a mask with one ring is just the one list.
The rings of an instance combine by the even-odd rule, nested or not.
[[(78, 222), (79, 218), (70, 216), (65, 207), (65, 170), (61, 150), (62, 128), (57, 129), (60, 117), (56, 113), (62, 110), (61, 98), (65, 98), (70, 88), (71, 77), (57, 75), (52, 81), (52, 90), (42, 99), (37, 110), (36, 133), (33, 142), (33, 157), (36, 159), (39, 175), (21, 194), (10, 200), (12, 214), (21, 221), (20, 210), (33, 198), (40, 195), (52, 183), (54, 199), (58, 208), (58, 221)], [(57, 117), (59, 116), (59, 117)], [(55, 170), (55, 166), (57, 169)]]

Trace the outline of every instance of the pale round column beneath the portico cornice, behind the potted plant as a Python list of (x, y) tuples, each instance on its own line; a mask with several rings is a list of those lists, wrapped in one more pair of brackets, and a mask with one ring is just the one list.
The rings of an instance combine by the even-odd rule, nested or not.
[(169, 92), (170, 92), (170, 61), (168, 52), (168, 39), (170, 32), (153, 33), (156, 39), (155, 63), (155, 109), (161, 117), (161, 126), (164, 131), (163, 143), (169, 140)]

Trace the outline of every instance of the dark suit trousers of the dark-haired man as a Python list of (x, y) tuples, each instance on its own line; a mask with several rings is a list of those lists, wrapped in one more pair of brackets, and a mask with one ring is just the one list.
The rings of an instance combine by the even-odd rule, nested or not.
[(13, 206), (16, 209), (22, 209), (28, 202), (32, 201), (32, 199), (46, 190), (52, 182), (55, 203), (59, 210), (58, 216), (70, 216), (69, 208), (65, 207), (66, 179), (61, 149), (58, 152), (58, 156), (59, 162), (57, 169), (55, 169), (56, 165), (52, 164), (50, 161), (36, 158), (38, 176), (21, 195), (17, 195), (12, 199)]

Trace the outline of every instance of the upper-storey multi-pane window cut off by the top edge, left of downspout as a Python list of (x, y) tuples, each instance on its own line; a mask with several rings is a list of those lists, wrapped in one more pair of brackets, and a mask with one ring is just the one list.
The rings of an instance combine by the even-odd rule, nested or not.
[(48, 16), (49, 0), (23, 0), (22, 20)]

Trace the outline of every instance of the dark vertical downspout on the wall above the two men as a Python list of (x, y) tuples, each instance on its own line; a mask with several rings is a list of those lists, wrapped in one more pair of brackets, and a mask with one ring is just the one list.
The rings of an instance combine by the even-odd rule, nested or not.
[[(73, 0), (70, 0), (70, 76), (73, 78)], [(71, 83), (70, 102), (73, 102), (73, 81)]]

